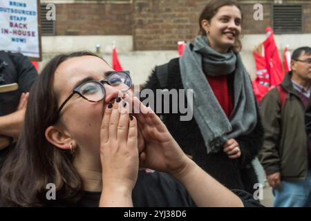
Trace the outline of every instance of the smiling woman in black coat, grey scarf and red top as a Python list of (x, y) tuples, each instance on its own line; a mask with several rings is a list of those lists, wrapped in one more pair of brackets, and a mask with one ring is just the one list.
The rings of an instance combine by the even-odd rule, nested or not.
[[(183, 113), (162, 115), (169, 132), (220, 183), (254, 193), (258, 179), (252, 160), (263, 143), (263, 128), (239, 55), (242, 22), (238, 1), (208, 1), (198, 19), (194, 44), (185, 46), (182, 57), (157, 67), (145, 88), (154, 93), (161, 88), (193, 90), (194, 118), (182, 122)], [(167, 79), (164, 86), (159, 79)], [(191, 102), (188, 99), (186, 106)]]

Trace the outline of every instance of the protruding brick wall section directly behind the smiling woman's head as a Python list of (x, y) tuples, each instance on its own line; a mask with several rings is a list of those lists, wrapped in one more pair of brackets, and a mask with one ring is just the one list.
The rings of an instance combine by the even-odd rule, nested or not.
[[(198, 34), (198, 17), (206, 2), (133, 0), (135, 50), (175, 50), (177, 41), (193, 41)], [(271, 26), (271, 5), (263, 4), (263, 21), (254, 21), (253, 6), (254, 4), (241, 5), (244, 15), (243, 33), (263, 34), (265, 28)]]

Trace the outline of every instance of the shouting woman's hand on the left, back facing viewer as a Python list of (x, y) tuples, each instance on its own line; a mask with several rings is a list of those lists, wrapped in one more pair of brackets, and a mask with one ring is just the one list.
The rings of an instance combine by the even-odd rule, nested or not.
[(120, 98), (106, 106), (100, 128), (100, 206), (133, 206), (131, 193), (138, 177), (137, 122), (129, 116), (129, 104), (117, 101)]

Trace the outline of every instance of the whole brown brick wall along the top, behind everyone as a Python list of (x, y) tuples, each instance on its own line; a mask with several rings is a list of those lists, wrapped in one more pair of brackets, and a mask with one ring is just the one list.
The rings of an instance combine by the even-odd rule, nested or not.
[[(267, 2), (267, 1), (265, 1)], [(56, 35), (133, 35), (134, 50), (176, 50), (193, 41), (206, 0), (133, 0), (132, 3), (57, 4)], [(264, 34), (272, 25), (271, 3), (254, 21), (254, 3), (241, 3), (243, 34)], [(303, 6), (303, 27), (311, 33), (311, 3)]]

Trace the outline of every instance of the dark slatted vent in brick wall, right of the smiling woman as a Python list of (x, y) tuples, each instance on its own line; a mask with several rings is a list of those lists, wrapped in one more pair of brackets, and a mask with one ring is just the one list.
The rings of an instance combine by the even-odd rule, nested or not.
[(276, 34), (303, 32), (301, 5), (274, 5), (273, 29)]

